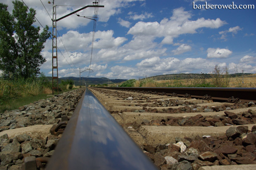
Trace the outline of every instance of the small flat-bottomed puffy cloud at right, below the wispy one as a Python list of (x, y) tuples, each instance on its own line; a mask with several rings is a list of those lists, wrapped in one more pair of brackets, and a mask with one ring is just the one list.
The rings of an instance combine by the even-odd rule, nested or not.
[(208, 48), (207, 58), (227, 58), (232, 51), (225, 48)]

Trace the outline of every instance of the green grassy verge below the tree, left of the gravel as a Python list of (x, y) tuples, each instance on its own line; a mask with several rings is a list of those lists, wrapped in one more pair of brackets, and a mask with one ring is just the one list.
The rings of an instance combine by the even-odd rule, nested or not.
[[(44, 75), (34, 79), (0, 77), (0, 112), (17, 109), (22, 105), (50, 97), (47, 95), (52, 94), (51, 83)], [(62, 80), (59, 84), (59, 93), (72, 89), (75, 89), (72, 80)], [(54, 91), (54, 94), (57, 93)]]

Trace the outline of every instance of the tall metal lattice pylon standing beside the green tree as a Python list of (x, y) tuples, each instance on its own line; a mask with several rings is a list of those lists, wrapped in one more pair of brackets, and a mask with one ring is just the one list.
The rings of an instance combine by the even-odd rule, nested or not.
[[(56, 5), (53, 0), (53, 19), (52, 19), (52, 94), (54, 89), (57, 89), (59, 94), (59, 75), (58, 75), (58, 48), (57, 48), (57, 18)], [(54, 86), (54, 79), (57, 81), (57, 86)]]

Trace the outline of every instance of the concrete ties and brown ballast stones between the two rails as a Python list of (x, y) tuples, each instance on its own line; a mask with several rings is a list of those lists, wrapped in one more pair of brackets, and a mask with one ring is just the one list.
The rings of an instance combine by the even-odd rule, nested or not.
[[(214, 165), (215, 169), (222, 168), (219, 165), (256, 168), (252, 165), (256, 162), (256, 138), (254, 143), (245, 141), (247, 136), (256, 137), (250, 132), (256, 130), (255, 100), (216, 102), (159, 91), (143, 94), (138, 90), (90, 89), (161, 169), (207, 169), (207, 165), (211, 169)], [(251, 93), (255, 94), (255, 89)]]

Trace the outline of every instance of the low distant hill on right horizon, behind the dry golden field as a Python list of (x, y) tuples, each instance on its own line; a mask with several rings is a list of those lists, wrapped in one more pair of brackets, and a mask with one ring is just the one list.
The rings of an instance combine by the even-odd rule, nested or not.
[[(239, 77), (239, 76), (253, 76), (252, 73), (234, 73), (229, 74), (230, 77)], [(255, 74), (254, 74), (255, 75)], [(190, 79), (190, 78), (211, 78), (213, 74), (207, 73), (179, 73), (179, 74), (165, 74), (165, 75), (155, 75), (147, 78), (152, 78), (154, 80), (166, 80), (166, 79)], [(144, 79), (144, 78), (142, 78)]]

